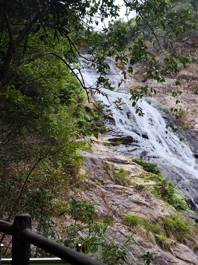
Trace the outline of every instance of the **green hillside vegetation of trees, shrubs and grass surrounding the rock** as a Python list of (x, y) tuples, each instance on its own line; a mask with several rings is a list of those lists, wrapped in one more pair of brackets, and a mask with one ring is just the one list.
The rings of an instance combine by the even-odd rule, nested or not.
[[(76, 239), (93, 243), (96, 238), (106, 236), (109, 241), (103, 240), (102, 244), (103, 262), (107, 264), (134, 262), (128, 258), (126, 247), (131, 248), (131, 253), (135, 249), (137, 226), (152, 234), (152, 238), (146, 236), (144, 240), (153, 239), (170, 252), (170, 240), (197, 247), (195, 227), (183, 217), (174, 214), (159, 217), (153, 224), (136, 215), (123, 217), (121, 212), (118, 216), (118, 206), (115, 210), (108, 203), (108, 194), (102, 190), (100, 181), (85, 167), (84, 151), (92, 152), (92, 144), (108, 131), (106, 117), (112, 116), (110, 106), (93, 100), (93, 93), (101, 93), (101, 87), (112, 90), (110, 80), (105, 78), (108, 71), (105, 57), (115, 57), (123, 69), (123, 79), (128, 61), (131, 65), (139, 62), (141, 74), (147, 73), (159, 82), (164, 81), (164, 75), (173, 75), (183, 67), (196, 71), (196, 1), (176, 1), (173, 8), (165, 0), (144, 2), (147, 9), (143, 9), (143, 3), (129, 1), (129, 11), (137, 10), (141, 16), (126, 23), (114, 21), (118, 7), (113, 1), (102, 4), (100, 1), (0, 1), (0, 219), (12, 222), (16, 214), (29, 213), (34, 231), (70, 247), (74, 247)], [(102, 21), (110, 20), (109, 27), (102, 31), (92, 27), (92, 17), (99, 16), (98, 12)], [(98, 18), (94, 24), (97, 21)], [(153, 25), (155, 32), (146, 29), (149, 25)], [(169, 28), (172, 37), (166, 33)], [(162, 40), (164, 34), (169, 37)], [(184, 39), (187, 41), (181, 42)], [(86, 87), (80, 72), (77, 74), (81, 53), (93, 54), (92, 67), (100, 74), (95, 90)], [(192, 64), (187, 66), (190, 60)], [(128, 72), (132, 71), (130, 66)], [(131, 103), (135, 106), (148, 87), (131, 91)], [(194, 91), (197, 94), (196, 86)], [(180, 94), (179, 89), (175, 93), (174, 97)], [(93, 104), (88, 104), (91, 101)], [(118, 99), (116, 105), (120, 110), (122, 104)], [(141, 116), (142, 110), (138, 109), (138, 113)], [(184, 115), (182, 110), (179, 115)], [(109, 148), (110, 143), (106, 141), (105, 145)], [(134, 162), (148, 166), (142, 161)], [(108, 167), (107, 163), (104, 170), (111, 183), (125, 188), (132, 185), (125, 168)], [(142, 173), (143, 170), (139, 172), (147, 180), (158, 181), (158, 187), (145, 192), (163, 200), (163, 205), (186, 209), (183, 198), (175, 195), (174, 185), (159, 176), (157, 167), (154, 169), (149, 175)], [(138, 186), (131, 189), (139, 192), (138, 188), (141, 189)], [(86, 194), (94, 194), (93, 189), (95, 193), (100, 191), (102, 202), (88, 200)], [(103, 204), (106, 212), (102, 216), (99, 210)], [(171, 211), (177, 214), (175, 209)], [(116, 237), (112, 232), (117, 231), (117, 223), (132, 231), (121, 243), (115, 243), (119, 235)], [(5, 257), (10, 257), (11, 238), (3, 234), (2, 242), (6, 246)], [(147, 256), (138, 253), (138, 258), (142, 255), (142, 262), (155, 264), (155, 253), (151, 250), (148, 253)], [(32, 248), (31, 255), (48, 254)]]

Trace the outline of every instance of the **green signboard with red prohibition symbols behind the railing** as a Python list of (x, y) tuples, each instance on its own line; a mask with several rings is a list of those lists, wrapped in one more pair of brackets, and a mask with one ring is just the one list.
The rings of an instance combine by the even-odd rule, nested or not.
[(101, 242), (95, 244), (83, 244), (80, 253), (86, 255), (89, 258), (94, 258), (97, 260), (102, 260), (102, 246)]

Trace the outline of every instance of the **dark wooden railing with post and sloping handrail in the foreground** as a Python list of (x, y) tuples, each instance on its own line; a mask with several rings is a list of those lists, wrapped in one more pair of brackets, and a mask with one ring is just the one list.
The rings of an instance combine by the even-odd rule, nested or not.
[(31, 230), (29, 214), (15, 216), (14, 222), (0, 220), (0, 232), (12, 235), (12, 265), (28, 265), (30, 258), (30, 244), (33, 244), (47, 253), (61, 258), (71, 265), (105, 265), (97, 260), (54, 242)]

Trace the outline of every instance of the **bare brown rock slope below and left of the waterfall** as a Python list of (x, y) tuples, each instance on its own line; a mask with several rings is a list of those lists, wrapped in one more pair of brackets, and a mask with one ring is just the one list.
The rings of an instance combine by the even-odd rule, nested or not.
[[(110, 164), (112, 169), (125, 168), (131, 177), (144, 171), (139, 165), (131, 162), (130, 159), (116, 153), (112, 147), (105, 146), (103, 136), (99, 138), (98, 144), (93, 146), (92, 153), (85, 153), (85, 159), (86, 169), (89, 169), (93, 180), (93, 187), (89, 190), (89, 194), (84, 194), (84, 196), (90, 201), (101, 202), (98, 207), (102, 218), (106, 216), (110, 205), (113, 205), (115, 218), (118, 218), (115, 230), (117, 229), (117, 236), (120, 242), (124, 239), (127, 240), (131, 236), (130, 229), (122, 223), (122, 218), (120, 218), (125, 214), (138, 215), (144, 220), (156, 223), (161, 218), (170, 217), (176, 213), (173, 207), (156, 199), (145, 190), (140, 191), (133, 186), (126, 187), (112, 183), (104, 167), (106, 163)], [(95, 182), (96, 180), (98, 184)], [(135, 180), (136, 178), (134, 178)], [(147, 183), (147, 185), (151, 184)], [(188, 218), (192, 221), (197, 216), (188, 214)], [(141, 238), (141, 235), (134, 235), (134, 239), (136, 241), (134, 241), (132, 253), (136, 258), (137, 264), (145, 264), (140, 258), (140, 254), (149, 251), (150, 253), (157, 253), (157, 264), (159, 265), (198, 265), (198, 253), (196, 253), (192, 245), (186, 246), (179, 242), (175, 242), (175, 244), (173, 242), (171, 252), (169, 252), (162, 249), (159, 245)], [(137, 244), (137, 242), (139, 243)]]

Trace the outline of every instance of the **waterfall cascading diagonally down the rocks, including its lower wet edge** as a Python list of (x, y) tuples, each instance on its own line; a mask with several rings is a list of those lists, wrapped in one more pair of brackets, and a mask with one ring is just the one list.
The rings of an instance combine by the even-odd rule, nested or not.
[[(168, 168), (166, 172), (171, 172), (173, 175), (172, 180), (175, 180), (174, 176), (176, 174), (178, 179), (183, 180), (183, 183), (188, 183), (186, 185), (189, 185), (192, 179), (198, 181), (198, 165), (191, 149), (183, 142), (180, 142), (172, 130), (168, 130), (168, 135), (165, 134), (166, 123), (164, 119), (157, 109), (149, 105), (144, 99), (142, 99), (142, 102), (139, 100), (136, 103), (136, 107), (143, 109), (145, 113), (144, 117), (140, 117), (135, 113), (136, 107), (132, 107), (132, 102), (129, 100), (130, 95), (123, 93), (123, 91), (126, 92), (137, 81), (131, 77), (129, 80), (123, 82), (118, 89), (118, 83), (122, 78), (121, 70), (115, 66), (112, 59), (107, 60), (110, 65), (110, 71), (107, 77), (110, 79), (109, 82), (115, 90), (103, 90), (106, 94), (109, 94), (108, 99), (101, 94), (95, 94), (95, 96), (98, 100), (103, 101), (103, 104), (111, 104), (110, 108), (113, 109), (113, 117), (118, 130), (122, 131), (124, 135), (131, 136), (131, 139), (133, 139), (132, 142), (138, 143), (141, 150), (145, 150), (150, 158), (155, 158), (154, 162), (161, 165), (161, 168)], [(85, 84), (94, 87), (98, 77), (96, 70), (89, 69), (86, 63), (82, 63), (85, 66), (84, 70), (82, 70)], [(116, 109), (114, 106), (113, 102), (117, 98), (122, 98), (122, 101), (125, 103), (122, 106), (123, 111)], [(129, 119), (127, 118), (126, 112), (130, 112)], [(122, 147), (120, 149), (118, 147), (117, 149), (119, 153), (122, 153), (122, 150)], [(123, 154), (126, 155), (126, 148), (124, 150), (125, 153)], [(133, 152), (129, 156), (133, 156)], [(183, 184), (179, 188), (183, 194), (191, 196), (196, 200), (197, 191), (195, 187), (192, 188), (190, 194), (187, 188), (184, 191)]]

